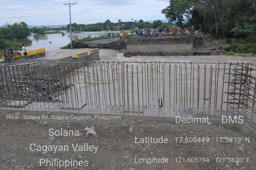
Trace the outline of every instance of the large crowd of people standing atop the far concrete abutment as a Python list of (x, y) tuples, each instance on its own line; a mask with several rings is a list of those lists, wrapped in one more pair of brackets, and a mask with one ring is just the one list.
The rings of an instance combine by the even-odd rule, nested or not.
[[(176, 31), (174, 30), (174, 28), (170, 27), (169, 28), (169, 36), (172, 36), (173, 34), (176, 34), (176, 32), (177, 32), (178, 35), (182, 34), (182, 33), (185, 34), (185, 31), (186, 31), (185, 27), (181, 28), (180, 26), (178, 26), (176, 28)], [(153, 35), (153, 37), (157, 37), (158, 35), (161, 35), (161, 34), (167, 35), (168, 32), (167, 32), (166, 27), (164, 29), (162, 29), (162, 28), (151, 28), (151, 29), (146, 29), (146, 30), (144, 30), (144, 29), (136, 30), (136, 37), (139, 38), (139, 37), (142, 36), (142, 34), (150, 34), (150, 35)]]

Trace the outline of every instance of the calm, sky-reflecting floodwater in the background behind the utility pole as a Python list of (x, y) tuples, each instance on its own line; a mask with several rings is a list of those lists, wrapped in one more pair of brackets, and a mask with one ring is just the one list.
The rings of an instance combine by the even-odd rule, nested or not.
[[(51, 32), (51, 31), (50, 31)], [(27, 46), (27, 51), (35, 50), (38, 48), (45, 48), (46, 51), (49, 50), (59, 50), (61, 47), (67, 45), (70, 42), (70, 33), (63, 31), (65, 35), (62, 34), (44, 34), (38, 35), (33, 34), (26, 39), (17, 39), (15, 41), (19, 43), (24, 43)], [(118, 32), (118, 31), (111, 31)], [(72, 39), (81, 39), (91, 35), (92, 37), (100, 37), (104, 34), (108, 34), (108, 31), (86, 31), (81, 33), (72, 33)], [(52, 42), (52, 43), (49, 43)], [(0, 56), (3, 56), (3, 51), (0, 50)]]

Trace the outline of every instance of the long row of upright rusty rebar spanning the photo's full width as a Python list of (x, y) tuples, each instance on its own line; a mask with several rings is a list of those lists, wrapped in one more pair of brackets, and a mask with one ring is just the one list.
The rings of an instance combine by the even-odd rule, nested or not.
[(149, 116), (244, 116), (255, 125), (253, 63), (2, 65), (3, 108)]

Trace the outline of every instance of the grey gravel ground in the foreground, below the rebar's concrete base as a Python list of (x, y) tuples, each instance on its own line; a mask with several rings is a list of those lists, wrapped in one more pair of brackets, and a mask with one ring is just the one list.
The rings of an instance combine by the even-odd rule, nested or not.
[[(7, 119), (7, 116), (13, 119)], [(26, 115), (26, 119), (23, 119)], [(37, 119), (41, 115), (56, 119)], [(19, 111), (1, 113), (0, 118), (0, 169), (63, 169), (58, 166), (40, 166), (40, 159), (76, 160), (88, 162), (88, 166), (69, 166), (66, 169), (88, 170), (240, 170), (255, 168), (255, 140), (245, 142), (245, 137), (239, 132), (227, 130), (221, 126), (210, 124), (170, 124), (167, 122), (147, 122), (144, 120), (130, 121), (129, 119), (100, 120), (100, 119), (69, 119), (71, 113)], [(62, 117), (60, 117), (62, 116)], [(66, 117), (65, 117), (66, 116)], [(86, 115), (83, 115), (86, 116)], [(19, 117), (19, 119), (15, 119)], [(62, 118), (62, 119), (60, 119)], [(68, 118), (68, 119), (66, 119)], [(96, 134), (86, 133), (84, 128), (94, 129)], [(74, 136), (49, 136), (49, 129), (78, 130)], [(87, 131), (88, 132), (88, 131)], [(153, 136), (168, 138), (166, 144), (140, 144), (137, 138)], [(176, 141), (176, 137), (200, 137), (208, 142)], [(216, 137), (239, 137), (241, 141), (217, 142)], [(181, 139), (181, 138), (179, 138)], [(234, 139), (234, 138), (233, 138)], [(35, 145), (69, 145), (87, 143), (98, 146), (90, 151), (31, 151), (30, 144)], [(35, 147), (34, 147), (35, 148)], [(254, 158), (253, 158), (254, 155)], [(157, 157), (169, 158), (169, 163), (136, 163), (139, 158)], [(177, 161), (176, 158), (186, 161)], [(209, 162), (195, 163), (191, 157), (207, 157)], [(216, 162), (216, 158), (250, 158), (240, 162)], [(220, 159), (221, 160), (221, 159)], [(192, 163), (191, 163), (192, 162)]]

